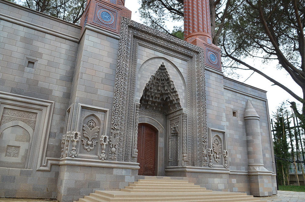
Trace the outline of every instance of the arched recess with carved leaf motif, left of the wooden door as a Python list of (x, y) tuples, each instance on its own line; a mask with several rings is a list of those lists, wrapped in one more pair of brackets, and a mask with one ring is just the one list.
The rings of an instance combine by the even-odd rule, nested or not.
[(95, 114), (87, 115), (79, 128), (81, 128), (79, 155), (87, 158), (98, 156), (99, 138), (101, 131), (104, 129), (99, 117)]

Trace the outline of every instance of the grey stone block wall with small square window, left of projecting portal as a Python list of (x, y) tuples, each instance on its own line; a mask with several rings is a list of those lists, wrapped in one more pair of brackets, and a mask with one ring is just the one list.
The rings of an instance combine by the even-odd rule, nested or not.
[[(22, 106), (4, 106), (2, 103), (0, 114), (2, 119), (6, 115), (3, 115), (3, 107), (18, 113), (24, 111), (27, 114), (27, 110), (38, 113), (36, 125), (41, 130), (44, 127), (46, 130), (42, 135), (39, 128), (32, 126), (33, 133), (30, 134), (30, 138), (36, 139), (37, 143), (32, 142), (29, 150), (20, 150), (28, 150), (29, 159), (25, 161), (26, 167), (22, 165), (23, 168), (19, 168), (20, 166), (14, 166), (12, 163), (7, 165), (8, 168), (0, 168), (0, 197), (56, 197), (59, 175), (59, 167), (56, 164), (60, 157), (60, 142), (65, 111), (69, 106), (80, 31), (81, 27), (77, 25), (10, 2), (0, 2), (0, 91), (5, 92), (1, 93), (0, 99), (5, 100), (9, 96)], [(28, 100), (31, 100), (32, 104), (27, 103)], [(33, 103), (36, 103), (36, 106), (45, 103), (53, 106), (49, 110), (49, 117), (52, 118), (49, 123), (42, 124), (41, 120), (44, 120), (44, 117), (39, 115), (40, 112), (35, 109)], [(11, 124), (15, 128), (11, 128), (10, 134), (18, 132), (16, 127), (24, 124), (23, 127), (27, 128), (27, 123), (34, 121), (16, 117), (12, 120), (16, 121)], [(1, 126), (5, 126), (3, 120)], [(5, 130), (4, 132), (7, 132), (7, 129)], [(27, 135), (23, 135), (21, 139), (16, 136), (14, 140), (9, 141), (15, 145), (25, 141), (25, 136)], [(1, 135), (2, 137), (4, 136)], [(4, 141), (1, 142), (3, 144)], [(37, 145), (38, 149), (33, 149), (36, 148), (34, 145)], [(41, 150), (42, 152), (39, 151), (40, 145), (46, 148), (44, 151)], [(2, 147), (7, 146), (1, 145)], [(4, 155), (5, 151), (1, 152)]]

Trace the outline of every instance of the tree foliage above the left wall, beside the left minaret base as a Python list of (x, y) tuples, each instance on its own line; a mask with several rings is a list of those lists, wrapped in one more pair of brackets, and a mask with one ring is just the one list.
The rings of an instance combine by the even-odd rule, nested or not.
[(87, 0), (24, 0), (23, 6), (57, 17), (71, 23), (79, 23)]

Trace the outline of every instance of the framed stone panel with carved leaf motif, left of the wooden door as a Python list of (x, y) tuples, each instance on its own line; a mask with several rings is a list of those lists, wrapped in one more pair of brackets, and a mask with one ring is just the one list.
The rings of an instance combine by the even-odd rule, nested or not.
[[(78, 104), (76, 123), (74, 130), (69, 132), (67, 126), (67, 134), (70, 134), (70, 142), (62, 142), (62, 150), (67, 148), (66, 155), (63, 157), (85, 158), (85, 159), (101, 159), (106, 160), (106, 150), (109, 143), (107, 135), (109, 109), (96, 106)], [(69, 116), (67, 111), (67, 116)], [(66, 125), (69, 125), (71, 118), (66, 117)], [(69, 138), (68, 138), (69, 139)], [(65, 140), (65, 138), (63, 138)], [(76, 153), (75, 153), (76, 152)], [(63, 152), (65, 153), (65, 152)], [(71, 155), (73, 154), (74, 155)]]

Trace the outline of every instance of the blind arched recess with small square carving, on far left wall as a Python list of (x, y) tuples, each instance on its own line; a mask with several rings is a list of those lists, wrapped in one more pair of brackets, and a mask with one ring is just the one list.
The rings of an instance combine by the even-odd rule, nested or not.
[(32, 145), (33, 135), (34, 130), (22, 121), (11, 121), (0, 126), (0, 147), (5, 151), (0, 156), (1, 167), (31, 167), (34, 155), (32, 150), (36, 146), (36, 142)]

